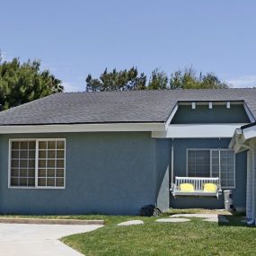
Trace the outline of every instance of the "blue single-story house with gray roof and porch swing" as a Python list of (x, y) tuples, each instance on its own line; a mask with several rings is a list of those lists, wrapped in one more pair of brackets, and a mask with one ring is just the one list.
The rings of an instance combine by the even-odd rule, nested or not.
[(255, 218), (255, 119), (256, 89), (57, 93), (4, 110), (0, 211), (223, 208), (231, 190)]

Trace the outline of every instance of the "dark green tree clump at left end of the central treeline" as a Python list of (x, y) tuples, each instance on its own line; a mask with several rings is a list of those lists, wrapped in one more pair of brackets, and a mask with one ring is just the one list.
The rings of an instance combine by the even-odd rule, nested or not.
[(117, 71), (114, 68), (108, 72), (106, 68), (100, 78), (93, 78), (91, 74), (86, 77), (87, 92), (131, 91), (146, 88), (146, 75), (138, 75), (137, 67)]

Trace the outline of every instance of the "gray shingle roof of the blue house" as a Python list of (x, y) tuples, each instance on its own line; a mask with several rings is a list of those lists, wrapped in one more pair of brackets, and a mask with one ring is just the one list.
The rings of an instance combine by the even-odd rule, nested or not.
[(256, 118), (256, 89), (57, 93), (0, 112), (0, 125), (165, 122), (178, 101), (244, 101)]

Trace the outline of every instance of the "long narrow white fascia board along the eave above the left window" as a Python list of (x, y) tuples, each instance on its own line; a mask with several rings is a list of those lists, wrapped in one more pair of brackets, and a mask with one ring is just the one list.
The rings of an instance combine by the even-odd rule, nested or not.
[(62, 133), (62, 132), (111, 132), (111, 131), (164, 131), (164, 123), (109, 123), (0, 126), (0, 134)]

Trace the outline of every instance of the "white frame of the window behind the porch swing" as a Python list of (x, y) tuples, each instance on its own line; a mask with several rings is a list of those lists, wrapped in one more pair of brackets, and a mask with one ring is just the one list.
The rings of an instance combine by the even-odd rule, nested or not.
[[(188, 161), (188, 156), (189, 156), (188, 152), (189, 152), (189, 150), (198, 150), (198, 151), (199, 150), (201, 150), (201, 151), (208, 150), (210, 152), (210, 172), (209, 172), (210, 177), (209, 178), (213, 178), (212, 177), (212, 159), (211, 159), (212, 158), (212, 152), (213, 151), (218, 151), (219, 154), (220, 154), (220, 151), (233, 151), (234, 152), (233, 149), (229, 149), (229, 148), (187, 148), (187, 152), (186, 152), (186, 175), (187, 175), (187, 177), (190, 177), (190, 175), (189, 175), (189, 165), (188, 165), (188, 163), (189, 163), (189, 161)], [(219, 173), (221, 173), (221, 170), (220, 170), (220, 155), (219, 155)], [(234, 186), (229, 186), (229, 187), (221, 186), (222, 189), (232, 189), (232, 190), (234, 190), (236, 188), (235, 176), (236, 176), (236, 170), (235, 170), (235, 154), (234, 154)], [(221, 175), (220, 174), (219, 174), (218, 178), (219, 178), (219, 181), (221, 183)]]

